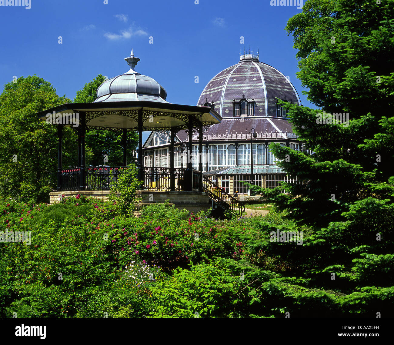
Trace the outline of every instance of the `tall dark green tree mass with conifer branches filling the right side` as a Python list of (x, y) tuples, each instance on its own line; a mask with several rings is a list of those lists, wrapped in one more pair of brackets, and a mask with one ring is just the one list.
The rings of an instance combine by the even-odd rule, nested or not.
[[(294, 34), (300, 59), (297, 76), (309, 89), (308, 99), (322, 109), (285, 105), (294, 132), (310, 151), (271, 144), (278, 165), (298, 181), (282, 183), (287, 195), (263, 190), (289, 221), (314, 229), (299, 250), (280, 256), (310, 279), (309, 286), (338, 292), (325, 295), (325, 304), (329, 298), (350, 313), (368, 315), (376, 308), (388, 312), (385, 303), (393, 298), (392, 13), (393, 0), (311, 0), (288, 21), (286, 30)], [(329, 114), (325, 124), (319, 123), (323, 111)], [(335, 113), (348, 113), (349, 122), (335, 123)], [(264, 250), (278, 254), (268, 246)], [(282, 291), (275, 297), (292, 293)], [(338, 308), (334, 304), (329, 313)]]

